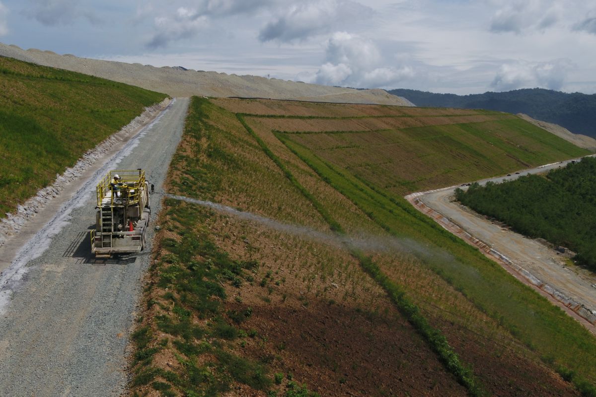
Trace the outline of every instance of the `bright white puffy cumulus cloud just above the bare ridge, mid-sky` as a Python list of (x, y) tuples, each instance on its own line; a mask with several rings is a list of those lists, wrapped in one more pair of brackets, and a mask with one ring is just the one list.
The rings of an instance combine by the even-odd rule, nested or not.
[(414, 68), (395, 67), (372, 40), (336, 32), (327, 41), (325, 63), (311, 79), (324, 85), (390, 87), (414, 77)]

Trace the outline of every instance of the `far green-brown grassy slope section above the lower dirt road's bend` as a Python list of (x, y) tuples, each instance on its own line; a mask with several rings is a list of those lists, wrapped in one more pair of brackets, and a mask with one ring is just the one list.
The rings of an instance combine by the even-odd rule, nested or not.
[(392, 124), (386, 123), (362, 131), (272, 133), (287, 135), (330, 164), (394, 195), (589, 154), (520, 118), (491, 117), (495, 119), (408, 128), (387, 129)]

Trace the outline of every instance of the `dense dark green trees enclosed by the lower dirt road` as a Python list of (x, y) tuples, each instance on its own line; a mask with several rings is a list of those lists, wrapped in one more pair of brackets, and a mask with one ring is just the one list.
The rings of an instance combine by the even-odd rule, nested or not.
[(504, 183), (455, 190), (462, 204), (530, 237), (577, 252), (596, 271), (596, 158)]

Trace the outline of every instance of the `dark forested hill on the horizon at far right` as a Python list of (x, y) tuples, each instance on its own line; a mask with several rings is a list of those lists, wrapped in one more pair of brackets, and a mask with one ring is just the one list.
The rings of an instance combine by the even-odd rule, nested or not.
[(471, 108), (525, 113), (530, 117), (559, 124), (576, 134), (596, 137), (596, 94), (564, 93), (533, 88), (508, 92), (455, 95), (410, 89), (389, 90), (416, 106)]

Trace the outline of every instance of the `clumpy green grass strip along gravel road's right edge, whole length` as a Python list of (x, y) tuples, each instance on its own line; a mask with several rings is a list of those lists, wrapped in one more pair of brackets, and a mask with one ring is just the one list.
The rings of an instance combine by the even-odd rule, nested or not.
[[(173, 188), (203, 198), (213, 198), (222, 189), (222, 174), (234, 172), (240, 161), (213, 144), (218, 131), (206, 122), (209, 115), (203, 110), (208, 103), (193, 98), (185, 125), (185, 136), (192, 142), (191, 155), (179, 150), (172, 161), (172, 169), (183, 171), (172, 182)], [(209, 143), (204, 146), (204, 142)], [(201, 162), (203, 156), (209, 161)], [(162, 395), (219, 396), (240, 383), (268, 395), (318, 396), (305, 386), (278, 393), (265, 358), (250, 360), (234, 351), (234, 346), (243, 346), (249, 337), (265, 343), (256, 332), (243, 329), (252, 308), (240, 299), (236, 302), (241, 310), (225, 310), (228, 296), (224, 285), (240, 291), (254, 280), (259, 262), (232, 260), (218, 247), (207, 226), (215, 217), (213, 211), (174, 199), (164, 201), (163, 211), (164, 227), (175, 230), (176, 237), (161, 240), (159, 261), (150, 268), (155, 282), (148, 290), (167, 292), (159, 300), (147, 302), (149, 309), (157, 305), (160, 312), (132, 336), (136, 352), (131, 386)], [(167, 337), (158, 340), (157, 335), (163, 334)], [(174, 355), (176, 369), (164, 370), (153, 364), (154, 355), (164, 351)]]

